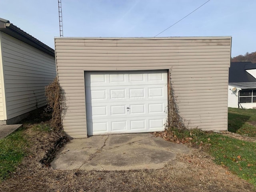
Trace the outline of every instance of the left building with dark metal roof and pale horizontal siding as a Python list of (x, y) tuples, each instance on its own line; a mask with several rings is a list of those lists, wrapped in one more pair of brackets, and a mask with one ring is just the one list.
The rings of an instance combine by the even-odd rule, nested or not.
[(56, 77), (54, 50), (0, 18), (0, 124), (15, 124), (46, 105)]

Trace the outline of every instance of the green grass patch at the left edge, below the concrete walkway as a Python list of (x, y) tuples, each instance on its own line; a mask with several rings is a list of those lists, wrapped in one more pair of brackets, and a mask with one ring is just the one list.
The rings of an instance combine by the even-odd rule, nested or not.
[(15, 171), (26, 155), (27, 146), (23, 129), (0, 140), (0, 181), (6, 179), (10, 172)]

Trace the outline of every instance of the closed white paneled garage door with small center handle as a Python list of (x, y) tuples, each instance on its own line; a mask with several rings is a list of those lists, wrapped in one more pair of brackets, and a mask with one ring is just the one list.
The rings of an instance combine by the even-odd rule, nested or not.
[(163, 131), (167, 71), (85, 72), (88, 135)]

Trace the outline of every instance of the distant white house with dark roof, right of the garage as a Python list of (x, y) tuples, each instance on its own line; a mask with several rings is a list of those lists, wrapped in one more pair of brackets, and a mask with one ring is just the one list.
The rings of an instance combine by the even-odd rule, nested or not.
[(256, 64), (251, 62), (231, 63), (228, 107), (256, 108)]

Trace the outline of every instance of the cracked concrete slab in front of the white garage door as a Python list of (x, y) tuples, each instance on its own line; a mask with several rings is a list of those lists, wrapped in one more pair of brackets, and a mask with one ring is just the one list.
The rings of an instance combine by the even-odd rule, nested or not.
[(63, 170), (137, 170), (158, 169), (189, 153), (181, 144), (155, 138), (150, 133), (117, 134), (73, 139), (52, 161), (52, 168)]

